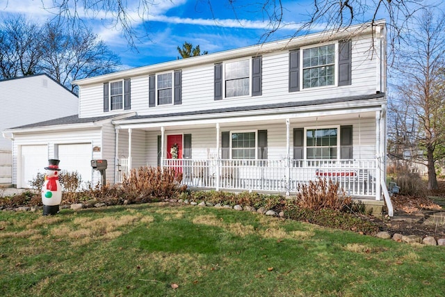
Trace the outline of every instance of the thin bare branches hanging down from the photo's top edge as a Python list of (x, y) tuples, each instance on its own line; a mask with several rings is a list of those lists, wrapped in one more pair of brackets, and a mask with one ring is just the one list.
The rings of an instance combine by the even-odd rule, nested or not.
[[(213, 9), (213, 4), (220, 0), (197, 0), (196, 6), (207, 6), (218, 25), (219, 10)], [(439, 1), (438, 1), (439, 2)], [(42, 2), (43, 3), (43, 2)], [(127, 38), (129, 45), (136, 48), (138, 38), (149, 36), (149, 12), (157, 5), (155, 0), (120, 1), (120, 0), (52, 0), (51, 6), (44, 6), (58, 16), (71, 19), (73, 24), (81, 24), (82, 14), (92, 17), (107, 15), (108, 25), (117, 27)], [(284, 20), (286, 6), (281, 0), (225, 0), (230, 10), (238, 19), (241, 11), (257, 14), (264, 19), (266, 34), (261, 41), (266, 41), (270, 35), (285, 26), (296, 27), (293, 36), (311, 31), (314, 26), (325, 26), (325, 29), (339, 29), (351, 24), (371, 22), (385, 15), (388, 26), (392, 28), (390, 40), (396, 41), (401, 32), (407, 28), (412, 16), (426, 8), (423, 0), (314, 0), (314, 4), (302, 12), (303, 21), (299, 24), (289, 24)], [(241, 19), (238, 19), (242, 22)], [(145, 34), (140, 35), (136, 25), (145, 25)], [(394, 43), (393, 43), (394, 44)]]

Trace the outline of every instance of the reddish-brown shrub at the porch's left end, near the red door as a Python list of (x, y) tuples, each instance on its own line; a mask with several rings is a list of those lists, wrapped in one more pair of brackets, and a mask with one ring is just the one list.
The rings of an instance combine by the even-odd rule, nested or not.
[(148, 202), (172, 198), (184, 190), (180, 186), (182, 172), (173, 168), (140, 167), (124, 175), (123, 195), (130, 202)]

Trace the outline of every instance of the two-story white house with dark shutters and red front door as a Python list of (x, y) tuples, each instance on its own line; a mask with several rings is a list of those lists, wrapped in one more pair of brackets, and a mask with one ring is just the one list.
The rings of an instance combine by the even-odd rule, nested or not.
[(74, 81), (79, 118), (10, 129), (14, 154), (39, 138), (63, 168), (60, 146), (84, 143), (111, 183), (161, 166), (191, 187), (295, 193), (327, 177), (380, 200), (385, 47), (381, 21)]

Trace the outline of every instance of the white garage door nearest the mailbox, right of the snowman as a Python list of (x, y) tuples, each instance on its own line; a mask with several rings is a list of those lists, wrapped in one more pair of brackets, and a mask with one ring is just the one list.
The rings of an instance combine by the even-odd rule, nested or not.
[(59, 168), (66, 171), (77, 171), (82, 182), (91, 182), (92, 148), (91, 143), (72, 143), (58, 145)]

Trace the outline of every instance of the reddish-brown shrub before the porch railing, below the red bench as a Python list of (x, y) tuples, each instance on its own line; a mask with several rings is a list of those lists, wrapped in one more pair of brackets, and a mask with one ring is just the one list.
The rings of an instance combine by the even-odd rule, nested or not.
[(330, 179), (300, 184), (298, 190), (296, 204), (304, 209), (341, 211), (352, 204), (352, 199), (346, 196), (343, 189), (339, 189), (339, 184), (334, 184)]

